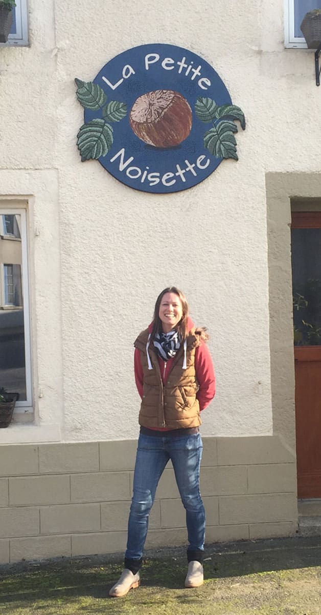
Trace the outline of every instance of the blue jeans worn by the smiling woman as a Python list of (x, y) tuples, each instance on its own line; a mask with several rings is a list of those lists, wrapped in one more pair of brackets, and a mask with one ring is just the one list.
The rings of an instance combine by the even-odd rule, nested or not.
[(128, 560), (141, 560), (149, 513), (155, 493), (169, 459), (174, 467), (180, 498), (186, 510), (188, 533), (188, 561), (203, 555), (205, 541), (205, 510), (199, 493), (199, 466), (203, 443), (199, 434), (179, 436), (139, 435), (134, 472), (134, 493), (128, 520), (128, 541), (125, 567)]

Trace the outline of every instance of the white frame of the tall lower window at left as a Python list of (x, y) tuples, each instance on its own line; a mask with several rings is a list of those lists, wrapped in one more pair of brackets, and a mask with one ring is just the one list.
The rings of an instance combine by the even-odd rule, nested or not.
[[(19, 215), (21, 221), (21, 262), (22, 262), (22, 292), (23, 292), (23, 324), (25, 328), (25, 370), (26, 370), (26, 400), (15, 404), (15, 412), (23, 413), (33, 411), (33, 387), (31, 366), (31, 336), (30, 336), (30, 307), (29, 307), (29, 274), (28, 274), (28, 237), (26, 209), (1, 207), (0, 215)], [(1, 218), (2, 222), (2, 218)], [(0, 271), (2, 296), (4, 296), (4, 267)]]

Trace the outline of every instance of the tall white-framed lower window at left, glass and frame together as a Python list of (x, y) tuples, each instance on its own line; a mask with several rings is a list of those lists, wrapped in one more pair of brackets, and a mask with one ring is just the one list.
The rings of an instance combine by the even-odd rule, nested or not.
[(24, 209), (0, 212), (0, 386), (19, 393), (18, 411), (32, 406)]

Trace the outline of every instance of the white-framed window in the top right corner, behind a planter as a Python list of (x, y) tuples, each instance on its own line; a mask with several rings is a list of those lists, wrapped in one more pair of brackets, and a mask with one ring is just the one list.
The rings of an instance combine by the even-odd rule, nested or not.
[(309, 10), (321, 9), (321, 0), (284, 0), (285, 47), (307, 47), (300, 25)]

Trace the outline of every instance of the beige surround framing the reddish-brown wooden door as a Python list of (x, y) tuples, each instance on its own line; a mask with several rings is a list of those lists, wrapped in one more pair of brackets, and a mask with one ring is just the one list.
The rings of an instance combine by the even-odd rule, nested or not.
[(321, 210), (321, 173), (266, 173), (273, 434), (296, 457), (291, 210)]

